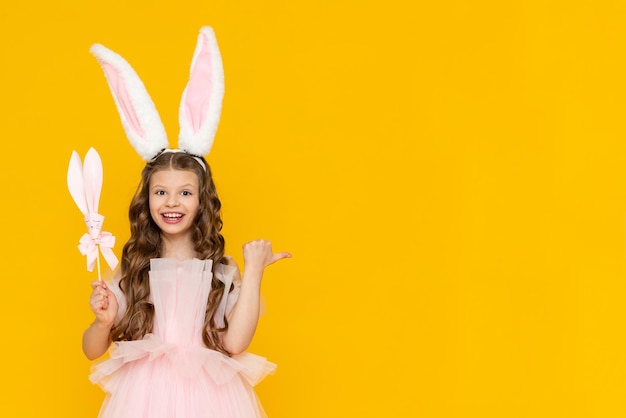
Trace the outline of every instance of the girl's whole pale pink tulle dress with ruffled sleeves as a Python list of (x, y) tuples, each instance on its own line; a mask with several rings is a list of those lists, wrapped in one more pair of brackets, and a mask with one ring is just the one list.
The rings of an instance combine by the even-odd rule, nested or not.
[[(109, 357), (94, 364), (90, 380), (107, 393), (103, 418), (265, 417), (253, 386), (276, 365), (250, 353), (228, 357), (202, 342), (211, 290), (211, 260), (153, 259), (150, 293), (154, 329), (142, 340), (116, 342)], [(235, 289), (222, 298), (221, 322), (239, 295), (235, 267), (216, 266), (216, 277)], [(111, 284), (124, 312), (119, 286)], [(218, 317), (220, 318), (218, 320)]]

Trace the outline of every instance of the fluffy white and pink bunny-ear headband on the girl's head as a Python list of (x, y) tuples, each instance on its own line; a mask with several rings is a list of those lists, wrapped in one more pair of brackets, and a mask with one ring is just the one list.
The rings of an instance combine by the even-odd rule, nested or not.
[[(205, 26), (198, 36), (179, 108), (178, 149), (169, 148), (154, 103), (128, 62), (99, 44), (91, 47), (91, 53), (104, 70), (126, 136), (144, 161), (153, 160), (161, 152), (186, 152), (199, 157), (211, 151), (224, 97), (224, 70), (213, 29)], [(204, 163), (196, 160), (206, 170)]]

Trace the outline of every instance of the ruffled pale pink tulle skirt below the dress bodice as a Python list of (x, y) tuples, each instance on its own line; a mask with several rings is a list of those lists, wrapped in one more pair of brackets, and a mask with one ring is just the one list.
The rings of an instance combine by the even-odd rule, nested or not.
[(276, 365), (242, 353), (180, 347), (148, 334), (115, 343), (90, 380), (107, 393), (101, 418), (266, 417), (253, 386)]

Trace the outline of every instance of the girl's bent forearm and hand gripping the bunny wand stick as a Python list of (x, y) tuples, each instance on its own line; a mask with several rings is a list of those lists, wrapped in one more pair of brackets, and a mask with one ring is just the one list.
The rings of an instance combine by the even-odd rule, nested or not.
[(111, 328), (117, 315), (117, 298), (103, 281), (91, 283), (89, 299), (96, 319), (83, 333), (83, 352), (89, 360), (103, 355), (111, 345)]

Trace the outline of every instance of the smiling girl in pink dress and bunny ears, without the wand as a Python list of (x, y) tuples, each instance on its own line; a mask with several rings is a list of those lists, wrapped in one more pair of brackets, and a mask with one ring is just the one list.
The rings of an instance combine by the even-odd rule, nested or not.
[[(182, 142), (185, 150), (162, 147), (162, 141), (146, 137), (146, 132), (153, 135), (154, 114), (145, 119), (147, 93), (143, 85), (139, 90), (131, 86), (138, 80), (132, 78), (134, 71), (104, 47), (92, 51), (105, 69), (131, 144), (142, 156), (165, 148), (144, 157), (147, 164), (130, 205), (131, 237), (121, 268), (111, 283), (92, 283), (90, 305), (96, 318), (83, 335), (83, 351), (93, 360), (114, 342), (109, 358), (96, 364), (90, 376), (107, 392), (100, 416), (263, 417), (252, 387), (276, 366), (245, 350), (259, 318), (263, 271), (291, 255), (274, 253), (267, 241), (247, 243), (240, 276), (232, 258), (224, 255), (221, 203), (200, 156), (208, 152), (214, 127), (199, 126), (204, 134), (194, 145), (184, 138), (181, 126), (179, 146)], [(202, 85), (194, 78), (195, 70), (211, 79), (199, 94), (215, 99), (221, 77), (214, 71), (217, 58), (213, 32), (203, 28), (183, 94), (190, 113), (201, 102), (198, 92), (191, 91)], [(132, 113), (135, 121), (129, 122)], [(183, 119), (181, 125), (189, 122)], [(205, 114), (202, 120), (211, 118)], [(141, 136), (144, 148), (133, 135)], [(152, 145), (146, 148), (146, 142)]]

